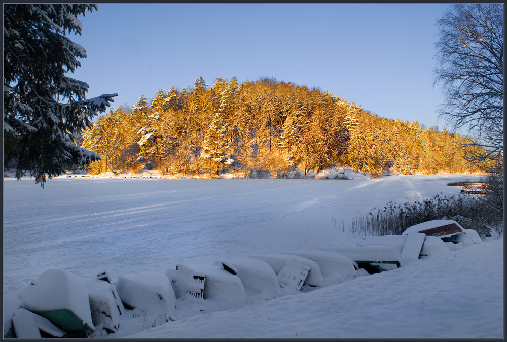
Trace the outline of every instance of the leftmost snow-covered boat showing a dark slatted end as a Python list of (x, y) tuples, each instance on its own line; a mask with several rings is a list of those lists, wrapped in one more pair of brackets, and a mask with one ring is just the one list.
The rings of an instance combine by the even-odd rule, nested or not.
[[(196, 282), (196, 278), (201, 277), (202, 286), (200, 282)], [(202, 289), (202, 298), (205, 300), (225, 301), (230, 307), (242, 307), (246, 303), (245, 288), (241, 280), (221, 266), (177, 264), (171, 278), (178, 298), (183, 298), (185, 293), (192, 295)]]

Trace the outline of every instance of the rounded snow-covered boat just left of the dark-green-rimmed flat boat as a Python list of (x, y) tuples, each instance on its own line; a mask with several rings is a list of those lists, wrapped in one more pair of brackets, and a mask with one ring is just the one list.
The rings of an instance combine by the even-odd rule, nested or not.
[(336, 252), (319, 250), (296, 250), (283, 254), (299, 255), (315, 261), (322, 274), (325, 285), (339, 284), (357, 277), (354, 262)]

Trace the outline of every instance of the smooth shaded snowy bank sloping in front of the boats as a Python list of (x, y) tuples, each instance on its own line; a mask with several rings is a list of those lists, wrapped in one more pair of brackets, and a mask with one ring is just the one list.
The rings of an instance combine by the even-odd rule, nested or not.
[(189, 317), (127, 338), (502, 339), (503, 251), (503, 239), (474, 244), (395, 271)]

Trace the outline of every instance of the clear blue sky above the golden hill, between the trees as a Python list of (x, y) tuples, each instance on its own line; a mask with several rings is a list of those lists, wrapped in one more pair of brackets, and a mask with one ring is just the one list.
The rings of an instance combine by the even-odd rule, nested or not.
[(79, 19), (87, 51), (72, 77), (112, 108), (202, 76), (274, 77), (393, 119), (438, 124), (440, 4), (99, 4)]

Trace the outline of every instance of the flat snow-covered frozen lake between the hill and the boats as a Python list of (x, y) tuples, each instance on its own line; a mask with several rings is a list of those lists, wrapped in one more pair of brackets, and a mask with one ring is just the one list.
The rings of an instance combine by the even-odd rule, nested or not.
[[(84, 278), (164, 272), (177, 262), (333, 247), (357, 211), (459, 193), (469, 175), (375, 180), (4, 179), (4, 291), (47, 269)], [(345, 227), (346, 228), (346, 227)]]

